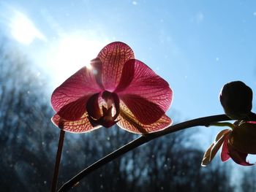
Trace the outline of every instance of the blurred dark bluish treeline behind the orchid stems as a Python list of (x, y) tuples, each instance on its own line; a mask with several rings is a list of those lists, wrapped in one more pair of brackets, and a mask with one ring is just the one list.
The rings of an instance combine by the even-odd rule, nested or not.
[[(59, 139), (59, 128), (50, 122), (50, 82), (37, 75), (24, 55), (1, 45), (0, 191), (50, 191)], [(233, 191), (227, 166), (200, 166), (203, 151), (192, 145), (191, 134), (180, 131), (138, 147), (90, 174), (72, 191)], [(118, 127), (67, 133), (59, 186), (136, 137)]]

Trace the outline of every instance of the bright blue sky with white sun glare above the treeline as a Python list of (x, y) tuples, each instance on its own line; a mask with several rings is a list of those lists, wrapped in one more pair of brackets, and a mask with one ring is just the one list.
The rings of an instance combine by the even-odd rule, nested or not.
[(172, 109), (187, 119), (222, 113), (226, 82), (256, 90), (255, 1), (2, 0), (0, 28), (51, 77), (50, 91), (113, 41), (170, 83), (170, 116)]

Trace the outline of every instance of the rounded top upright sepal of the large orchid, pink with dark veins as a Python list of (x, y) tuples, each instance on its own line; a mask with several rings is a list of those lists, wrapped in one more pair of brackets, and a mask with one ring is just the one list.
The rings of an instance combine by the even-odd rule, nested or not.
[(134, 58), (132, 49), (123, 42), (112, 42), (97, 56), (102, 61), (102, 83), (106, 91), (113, 91), (119, 84), (124, 64)]

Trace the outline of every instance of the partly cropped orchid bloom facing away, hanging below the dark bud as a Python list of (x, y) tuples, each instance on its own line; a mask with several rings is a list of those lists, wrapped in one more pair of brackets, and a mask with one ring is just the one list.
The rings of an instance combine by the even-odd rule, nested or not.
[(251, 166), (246, 157), (248, 154), (256, 154), (256, 121), (245, 122), (243, 120), (232, 123), (220, 123), (230, 126), (217, 134), (214, 143), (206, 150), (203, 156), (202, 166), (211, 162), (217, 151), (222, 146), (221, 159), (227, 161), (232, 158), (236, 164)]

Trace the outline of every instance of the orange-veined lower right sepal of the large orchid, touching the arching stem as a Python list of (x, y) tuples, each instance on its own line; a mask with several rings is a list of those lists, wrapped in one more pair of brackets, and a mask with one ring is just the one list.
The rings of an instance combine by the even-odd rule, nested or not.
[(167, 126), (170, 126), (172, 123), (172, 120), (168, 118), (167, 115), (162, 115), (159, 120), (151, 125), (144, 125), (137, 118), (135, 118), (135, 115), (133, 115), (129, 108), (123, 103), (121, 103), (120, 109), (120, 115), (118, 116), (120, 119), (118, 120), (117, 125), (135, 134), (147, 134), (160, 131), (167, 128)]

